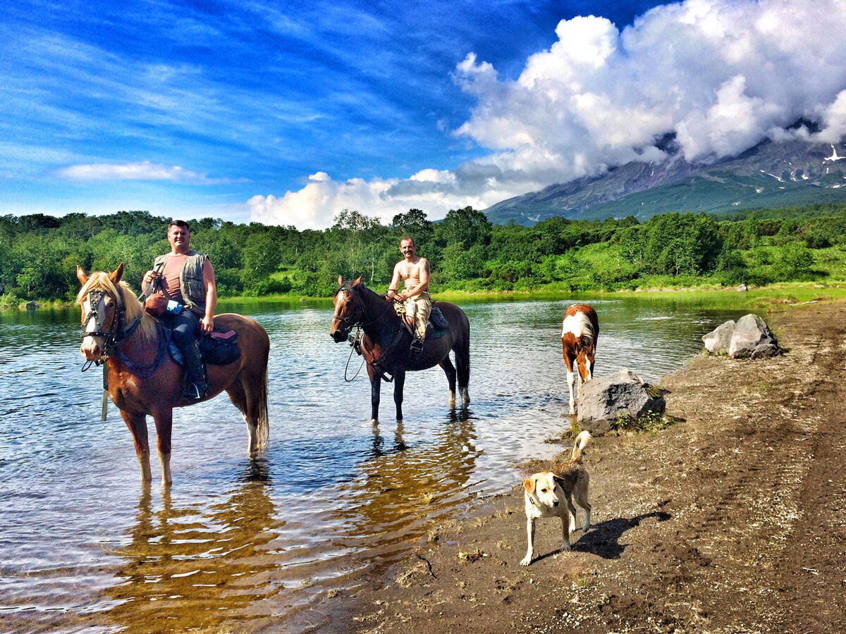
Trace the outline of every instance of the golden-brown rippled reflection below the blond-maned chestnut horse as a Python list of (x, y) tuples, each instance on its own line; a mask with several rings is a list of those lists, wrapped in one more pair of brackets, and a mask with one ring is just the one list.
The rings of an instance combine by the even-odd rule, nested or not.
[(129, 544), (113, 553), (124, 560), (107, 590), (114, 625), (168, 632), (243, 623), (250, 604), (283, 589), (264, 578), (276, 566), (272, 541), (285, 525), (268, 493), (268, 467), (250, 461), (239, 484), (211, 506), (174, 504), (169, 489), (156, 500), (149, 485), (142, 489)]

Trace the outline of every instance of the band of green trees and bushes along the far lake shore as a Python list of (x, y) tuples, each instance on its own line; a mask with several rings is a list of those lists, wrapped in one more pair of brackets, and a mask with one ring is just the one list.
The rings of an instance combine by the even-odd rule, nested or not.
[[(0, 303), (69, 301), (75, 266), (112, 271), (137, 289), (167, 253), (169, 218), (0, 216)], [(343, 210), (322, 231), (186, 219), (191, 246), (209, 254), (221, 297), (329, 297), (338, 275), (383, 291), (411, 236), (429, 259), (433, 292), (613, 291), (846, 280), (846, 205), (755, 210), (735, 216), (667, 213), (640, 222), (551, 218), (494, 225), (471, 207), (440, 221), (412, 209), (385, 225)]]

